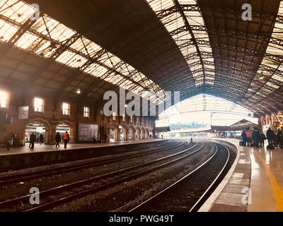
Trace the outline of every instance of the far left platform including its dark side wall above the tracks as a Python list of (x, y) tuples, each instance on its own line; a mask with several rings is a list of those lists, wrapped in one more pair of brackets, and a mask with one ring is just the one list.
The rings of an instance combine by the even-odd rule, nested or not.
[(114, 155), (126, 150), (127, 148), (124, 147), (128, 145), (157, 141), (167, 141), (167, 139), (159, 138), (112, 143), (69, 143), (67, 148), (64, 148), (64, 143), (61, 143), (59, 148), (55, 148), (55, 145), (35, 144), (33, 150), (30, 149), (28, 145), (10, 148), (10, 150), (7, 150), (6, 147), (1, 147), (0, 170), (19, 169), (35, 165), (48, 165), (58, 162), (88, 159), (91, 157), (103, 157), (104, 155)]

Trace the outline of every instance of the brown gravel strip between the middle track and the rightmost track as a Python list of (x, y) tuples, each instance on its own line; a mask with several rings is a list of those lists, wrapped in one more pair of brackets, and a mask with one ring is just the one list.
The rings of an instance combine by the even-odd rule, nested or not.
[(206, 145), (206, 148), (199, 153), (195, 153), (174, 165), (158, 169), (146, 176), (119, 184), (111, 189), (57, 206), (51, 211), (129, 210), (184, 177), (185, 174), (205, 162), (214, 152), (214, 145)]

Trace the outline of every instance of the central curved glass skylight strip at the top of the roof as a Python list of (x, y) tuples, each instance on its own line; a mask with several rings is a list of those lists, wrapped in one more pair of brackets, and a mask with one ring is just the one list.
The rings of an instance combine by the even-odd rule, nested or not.
[[(209, 36), (196, 0), (146, 0), (172, 35), (195, 78), (195, 86), (214, 85), (214, 59)], [(180, 6), (182, 11), (170, 12)], [(182, 15), (182, 12), (184, 13)], [(190, 27), (190, 28), (188, 28)], [(196, 30), (195, 30), (196, 29)], [(193, 32), (190, 32), (193, 30)], [(193, 41), (195, 40), (195, 42)], [(197, 48), (200, 54), (197, 53)], [(202, 68), (203, 64), (203, 68)]]

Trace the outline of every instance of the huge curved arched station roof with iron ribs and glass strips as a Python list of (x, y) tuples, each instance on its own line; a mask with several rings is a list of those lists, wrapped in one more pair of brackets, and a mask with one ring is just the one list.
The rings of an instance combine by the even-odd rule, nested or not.
[[(73, 67), (79, 72), (67, 81), (69, 93), (79, 87), (96, 99), (101, 97), (97, 93), (113, 84), (141, 95), (180, 90), (181, 100), (207, 93), (258, 114), (283, 109), (280, 0), (248, 1), (251, 21), (241, 17), (245, 3), (241, 0), (59, 0), (52, 4), (26, 0), (39, 4), (44, 13), (37, 23), (21, 20), (26, 12), (17, 13), (21, 7), (16, 7), (23, 1), (0, 2), (0, 37), (17, 33), (12, 40), (11, 36), (7, 41), (2, 38), (6, 42), (0, 45), (2, 51), (9, 54), (15, 51), (11, 46), (21, 44), (29, 53), (40, 52), (49, 60), (40, 69), (46, 71), (58, 61)], [(14, 12), (5, 14), (7, 8)], [(7, 25), (13, 25), (14, 31), (7, 32)], [(64, 38), (53, 38), (50, 30), (61, 32)], [(30, 43), (21, 42), (24, 37), (30, 37)], [(3, 57), (0, 60), (1, 68), (9, 70)], [(35, 71), (28, 79), (37, 85), (64, 83), (56, 73), (44, 78), (45, 71)], [(77, 79), (88, 74), (100, 82)]]

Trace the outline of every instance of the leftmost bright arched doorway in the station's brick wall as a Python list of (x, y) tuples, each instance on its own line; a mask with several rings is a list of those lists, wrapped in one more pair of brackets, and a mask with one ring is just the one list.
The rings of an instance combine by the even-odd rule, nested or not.
[(24, 132), (24, 139), (25, 142), (30, 141), (30, 134), (34, 133), (37, 138), (39, 138), (40, 134), (43, 135), (44, 143), (50, 144), (51, 142), (51, 125), (50, 123), (45, 119), (30, 119), (28, 121), (28, 124), (25, 126), (25, 132)]

